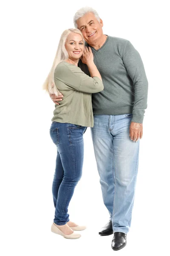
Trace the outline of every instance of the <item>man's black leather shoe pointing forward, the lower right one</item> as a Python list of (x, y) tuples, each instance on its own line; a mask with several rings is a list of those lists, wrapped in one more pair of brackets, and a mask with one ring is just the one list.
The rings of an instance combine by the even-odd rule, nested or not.
[(111, 247), (113, 250), (120, 250), (126, 245), (126, 234), (122, 232), (115, 232)]

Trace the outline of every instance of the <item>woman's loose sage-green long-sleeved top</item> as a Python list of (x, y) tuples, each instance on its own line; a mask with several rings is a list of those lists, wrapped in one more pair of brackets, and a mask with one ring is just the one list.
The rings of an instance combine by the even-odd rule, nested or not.
[(94, 76), (86, 75), (79, 67), (66, 61), (60, 62), (54, 72), (57, 89), (63, 94), (60, 105), (55, 105), (55, 122), (71, 123), (93, 127), (93, 109), (91, 93), (104, 89), (102, 81)]

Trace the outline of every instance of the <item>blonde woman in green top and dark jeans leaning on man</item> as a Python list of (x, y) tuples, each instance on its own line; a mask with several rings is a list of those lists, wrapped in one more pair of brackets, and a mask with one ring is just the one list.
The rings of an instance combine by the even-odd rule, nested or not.
[[(81, 57), (91, 77), (78, 67)], [(91, 48), (84, 47), (79, 29), (67, 29), (62, 33), (44, 89), (48, 93), (64, 95), (61, 104), (55, 105), (50, 128), (51, 139), (57, 145), (52, 185), (55, 218), (51, 231), (68, 239), (77, 239), (81, 235), (74, 230), (84, 230), (85, 227), (69, 220), (68, 205), (82, 175), (83, 134), (87, 127), (94, 126), (91, 93), (104, 89)]]

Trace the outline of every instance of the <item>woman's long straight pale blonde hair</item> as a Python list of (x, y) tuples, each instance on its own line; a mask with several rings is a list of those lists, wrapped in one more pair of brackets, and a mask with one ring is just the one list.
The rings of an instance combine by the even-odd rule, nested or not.
[[(53, 61), (53, 65), (51, 67), (51, 70), (50, 70), (44, 84), (43, 84), (43, 89), (46, 90), (46, 92), (55, 94), (56, 96), (59, 95), (59, 91), (58, 91), (57, 87), (55, 86), (54, 71), (60, 62), (68, 59), (68, 52), (65, 49), (65, 41), (71, 32), (80, 34), (83, 39), (82, 32), (79, 29), (66, 29), (64, 32), (62, 32), (62, 35), (59, 40), (59, 45), (57, 48), (56, 56)], [(83, 41), (84, 41), (84, 39), (83, 39)]]

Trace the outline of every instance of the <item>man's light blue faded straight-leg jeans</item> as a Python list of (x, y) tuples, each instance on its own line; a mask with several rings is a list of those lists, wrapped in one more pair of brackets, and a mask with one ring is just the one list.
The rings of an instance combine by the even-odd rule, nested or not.
[(113, 232), (127, 234), (130, 228), (138, 171), (139, 140), (129, 137), (132, 114), (94, 115), (91, 134), (102, 197)]

